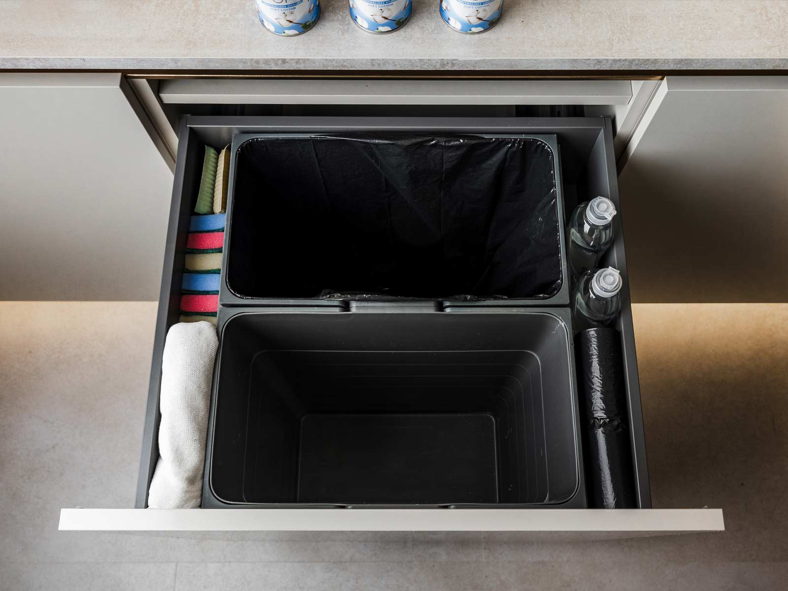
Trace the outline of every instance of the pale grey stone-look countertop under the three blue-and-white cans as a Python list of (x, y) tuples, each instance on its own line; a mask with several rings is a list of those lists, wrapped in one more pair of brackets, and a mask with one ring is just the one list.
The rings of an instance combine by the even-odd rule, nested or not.
[(283, 39), (252, 0), (0, 2), (0, 69), (648, 71), (788, 69), (786, 0), (505, 0), (482, 35), (414, 0), (401, 31), (371, 35), (346, 0)]

